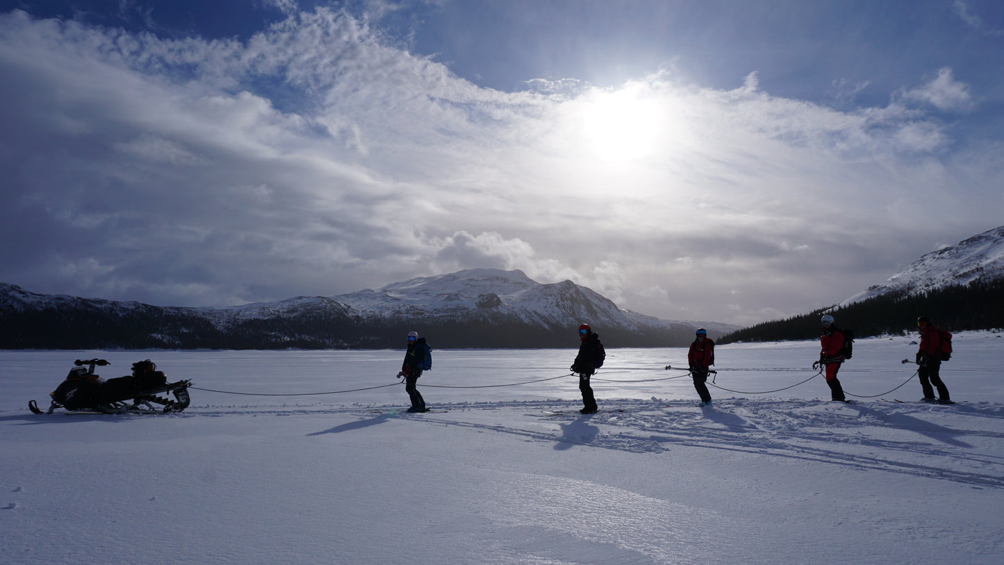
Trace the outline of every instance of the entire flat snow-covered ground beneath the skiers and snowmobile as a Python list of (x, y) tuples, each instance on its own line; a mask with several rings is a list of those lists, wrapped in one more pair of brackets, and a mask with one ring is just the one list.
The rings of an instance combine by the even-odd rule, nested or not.
[[(845, 390), (906, 381), (910, 341), (858, 340)], [(394, 383), (403, 351), (0, 351), (0, 563), (1004, 562), (999, 334), (956, 337), (949, 406), (916, 403), (916, 377), (852, 404), (822, 401), (821, 376), (745, 393), (812, 376), (817, 344), (788, 342), (719, 347), (716, 384), (744, 393), (713, 387), (711, 409), (666, 379), (685, 350), (609, 349), (582, 416), (574, 346), (437, 350), (421, 390), (449, 411), (425, 414), (403, 385), (27, 409), (75, 358), (294, 393)]]

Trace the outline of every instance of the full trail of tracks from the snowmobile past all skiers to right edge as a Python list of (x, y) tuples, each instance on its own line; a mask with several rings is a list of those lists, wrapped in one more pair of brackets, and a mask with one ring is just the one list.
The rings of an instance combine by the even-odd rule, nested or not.
[[(722, 399), (711, 409), (690, 400), (606, 400), (594, 414), (579, 414), (577, 402), (555, 400), (436, 404), (447, 412), (408, 413), (401, 405), (191, 406), (179, 414), (103, 414), (111, 419), (143, 417), (255, 417), (342, 414), (358, 419), (343, 430), (380, 417), (409, 418), (425, 425), (467, 428), (516, 436), (529, 441), (588, 446), (630, 453), (663, 453), (679, 447), (781, 457), (837, 465), (859, 471), (903, 473), (966, 484), (1004, 488), (1004, 456), (993, 432), (1004, 418), (1004, 405), (992, 402), (949, 406), (885, 400), (849, 404), (823, 400)], [(559, 410), (550, 414), (543, 409)], [(517, 410), (495, 422), (491, 412)], [(533, 411), (527, 411), (533, 410)], [(963, 416), (965, 429), (939, 423), (942, 412)], [(56, 414), (57, 417), (92, 417)], [(487, 416), (487, 417), (486, 417)], [(6, 416), (0, 416), (0, 420)], [(488, 421), (486, 421), (486, 419)], [(902, 438), (891, 439), (890, 429)], [(567, 448), (564, 448), (567, 449)], [(923, 461), (924, 463), (919, 463)], [(943, 465), (938, 465), (942, 461)], [(960, 470), (960, 466), (966, 470)]]

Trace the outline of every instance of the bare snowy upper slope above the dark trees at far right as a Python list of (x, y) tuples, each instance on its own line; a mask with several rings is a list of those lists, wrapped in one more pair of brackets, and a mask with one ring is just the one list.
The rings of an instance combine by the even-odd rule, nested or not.
[(917, 295), (977, 279), (1004, 277), (1004, 226), (928, 253), (886, 282), (847, 298), (839, 307), (876, 296)]

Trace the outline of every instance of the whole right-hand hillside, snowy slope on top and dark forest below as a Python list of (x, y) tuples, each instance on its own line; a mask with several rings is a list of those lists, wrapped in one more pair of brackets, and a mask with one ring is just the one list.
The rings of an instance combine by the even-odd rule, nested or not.
[(823, 313), (860, 337), (916, 332), (921, 315), (952, 331), (1004, 327), (1004, 227), (924, 255), (835, 306), (746, 327), (719, 343), (817, 337)]

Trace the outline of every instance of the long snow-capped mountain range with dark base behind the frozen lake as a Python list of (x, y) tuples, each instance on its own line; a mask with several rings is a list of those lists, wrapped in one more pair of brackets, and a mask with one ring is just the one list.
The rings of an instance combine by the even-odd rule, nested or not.
[(699, 326), (712, 337), (736, 329), (661, 320), (571, 281), (541, 284), (496, 269), (225, 308), (39, 295), (0, 284), (0, 320), (6, 348), (379, 348), (400, 346), (412, 329), (439, 347), (567, 347), (582, 322), (611, 347), (680, 346)]

